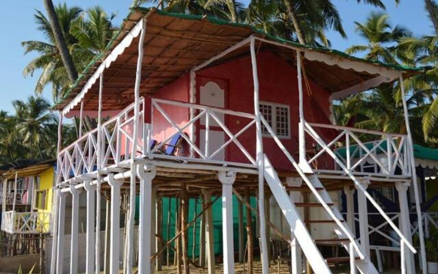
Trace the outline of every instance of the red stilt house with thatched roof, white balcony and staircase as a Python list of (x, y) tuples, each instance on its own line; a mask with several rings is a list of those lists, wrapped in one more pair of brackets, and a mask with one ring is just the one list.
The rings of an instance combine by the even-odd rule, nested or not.
[[(80, 195), (87, 199), (86, 273), (103, 269), (96, 260), (102, 253), (110, 258), (110, 273), (152, 273), (154, 265), (160, 269), (169, 248), (163, 242), (163, 215), (157, 206), (163, 197), (180, 201), (177, 235), (172, 239), (177, 245), (171, 247), (177, 253), (177, 269), (185, 273), (190, 267), (187, 228), (193, 224), (187, 218), (188, 201), (198, 197), (203, 200), (195, 216), (203, 220), (198, 264), (206, 261), (209, 273), (219, 261), (212, 244), (214, 199), (222, 201), (224, 273), (234, 273), (237, 253), (244, 253), (233, 239), (244, 230), (243, 223), (250, 222), (240, 221), (239, 232), (233, 229), (233, 197), (244, 205), (246, 216), (253, 211), (257, 216), (263, 273), (269, 273), (272, 234), (289, 245), (292, 273), (301, 273), (306, 264), (314, 273), (331, 273), (333, 265), (342, 263), (351, 273), (378, 273), (371, 258), (368, 208), (363, 206), (367, 202), (397, 239), (402, 272), (415, 273), (415, 262), (425, 271), (423, 227), (418, 229), (420, 244), (414, 247), (407, 202), (407, 188), (412, 186), (421, 219), (407, 117), (407, 134), (332, 123), (333, 101), (381, 84), (403, 83), (417, 73), (421, 69), (299, 45), (240, 23), (133, 10), (107, 53), (95, 58), (56, 106), (62, 117), (96, 117), (98, 126), (61, 147), (60, 122), (51, 273), (63, 269), (68, 196), (73, 199), (68, 262), (70, 273), (77, 273)], [(364, 136), (374, 141), (365, 142)], [(368, 169), (370, 159), (375, 169)], [(396, 187), (400, 222), (370, 194), (381, 186)], [(352, 208), (355, 190), (357, 216)], [(110, 195), (105, 227), (110, 242), (102, 250), (104, 191)], [(344, 216), (340, 191), (346, 194)], [(121, 228), (123, 195), (129, 195), (131, 206)], [(248, 204), (250, 197), (257, 199), (257, 210)], [(270, 221), (269, 215), (276, 214), (269, 213), (270, 204), (279, 208), (277, 216), (284, 218), (287, 236)], [(243, 219), (244, 214), (239, 215)], [(250, 227), (246, 231), (254, 233)], [(326, 245), (341, 247), (345, 255), (327, 256)], [(253, 247), (250, 240), (251, 263)]]

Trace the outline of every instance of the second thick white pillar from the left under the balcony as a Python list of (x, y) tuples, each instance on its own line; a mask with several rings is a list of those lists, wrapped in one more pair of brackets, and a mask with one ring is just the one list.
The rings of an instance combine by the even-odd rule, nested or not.
[(71, 206), (71, 242), (70, 242), (70, 274), (77, 274), (78, 249), (79, 242), (79, 194), (82, 189), (76, 189), (75, 185), (70, 184), (70, 193), (72, 197)]

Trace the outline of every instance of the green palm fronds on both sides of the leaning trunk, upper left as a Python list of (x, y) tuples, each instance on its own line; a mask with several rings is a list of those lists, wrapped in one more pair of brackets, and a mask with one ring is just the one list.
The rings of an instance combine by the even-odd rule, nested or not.
[[(116, 30), (111, 23), (114, 14), (108, 16), (99, 6), (83, 11), (78, 7), (67, 7), (65, 3), (57, 5), (55, 12), (76, 69), (83, 71), (94, 55), (105, 51)], [(25, 54), (38, 53), (38, 56), (25, 66), (23, 75), (33, 76), (36, 71), (40, 71), (34, 91), (39, 95), (50, 84), (53, 101), (56, 103), (71, 84), (70, 79), (55, 46), (53, 30), (48, 19), (39, 10), (36, 10), (34, 18), (37, 29), (44, 34), (47, 41), (28, 40), (21, 43)]]

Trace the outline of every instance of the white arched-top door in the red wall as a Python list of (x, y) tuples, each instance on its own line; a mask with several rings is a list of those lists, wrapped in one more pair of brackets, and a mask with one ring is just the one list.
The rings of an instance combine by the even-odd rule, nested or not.
[[(216, 108), (225, 108), (225, 90), (220, 88), (215, 82), (207, 82), (199, 88), (199, 103), (201, 105), (209, 105)], [(218, 119), (224, 123), (224, 114), (215, 112)], [(201, 151), (205, 151), (205, 116), (201, 118), (201, 129), (199, 130), (199, 142)], [(217, 151), (225, 142), (225, 133), (220, 129), (220, 126), (210, 116), (209, 118), (209, 155)], [(213, 160), (225, 160), (225, 151), (222, 149), (214, 157)]]

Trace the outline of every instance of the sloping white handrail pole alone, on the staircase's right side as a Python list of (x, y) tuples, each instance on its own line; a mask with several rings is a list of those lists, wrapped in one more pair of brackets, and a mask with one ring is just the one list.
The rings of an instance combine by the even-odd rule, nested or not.
[(352, 181), (355, 183), (355, 186), (357, 187), (358, 190), (360, 190), (363, 195), (365, 195), (365, 197), (367, 197), (368, 201), (370, 201), (370, 203), (372, 203), (372, 205), (374, 206), (374, 208), (376, 208), (376, 210), (381, 213), (381, 215), (383, 216), (383, 218), (387, 221), (387, 223), (389, 223), (389, 225), (392, 227), (392, 229), (394, 229), (396, 231), (396, 233), (398, 234), (398, 236), (400, 237), (401, 240), (403, 240), (403, 242), (409, 247), (409, 249), (411, 249), (411, 251), (415, 254), (417, 253), (417, 251), (415, 250), (415, 248), (413, 247), (413, 245), (411, 245), (411, 242), (409, 242), (409, 240), (407, 240), (407, 238), (404, 237), (404, 235), (402, 234), (402, 232), (400, 232), (400, 229), (398, 229), (398, 227), (391, 221), (391, 219), (389, 218), (389, 216), (387, 216), (387, 214), (385, 213), (385, 211), (381, 208), (381, 206), (378, 205), (378, 203), (376, 203), (376, 201), (374, 201), (374, 199), (372, 198), (372, 196), (370, 195), (370, 193), (368, 193), (365, 188), (363, 188), (363, 186), (360, 184), (359, 180), (355, 177), (355, 175), (352, 175), (352, 173), (350, 172), (350, 170), (347, 169), (347, 167), (342, 163), (341, 160), (339, 160), (336, 156), (336, 154), (329, 148), (327, 147), (326, 143), (322, 140), (322, 138), (315, 132), (315, 130), (311, 127), (311, 125), (309, 125), (309, 123), (305, 122), (305, 127), (309, 130), (309, 134), (311, 134), (311, 137), (318, 142), (318, 145), (320, 145), (321, 147), (325, 147), (326, 148), (326, 152), (329, 153), (329, 155), (331, 155), (331, 157), (333, 158), (333, 160), (335, 160), (335, 162), (337, 164), (339, 164), (339, 166), (341, 166), (341, 168), (344, 170), (344, 172), (346, 173), (346, 175), (348, 175), (348, 177), (350, 177), (352, 179)]

